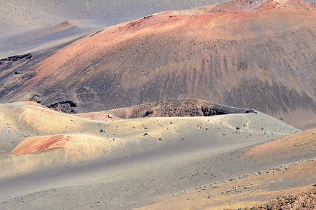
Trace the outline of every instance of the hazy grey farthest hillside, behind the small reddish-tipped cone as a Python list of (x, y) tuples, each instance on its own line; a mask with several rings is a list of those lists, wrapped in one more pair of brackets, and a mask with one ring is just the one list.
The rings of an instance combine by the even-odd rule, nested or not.
[(218, 2), (220, 1), (3, 0), (0, 7), (0, 27), (3, 33), (0, 36), (51, 27), (69, 19), (87, 19), (103, 25), (115, 25), (164, 10), (183, 10)]

